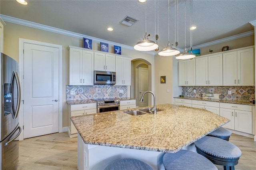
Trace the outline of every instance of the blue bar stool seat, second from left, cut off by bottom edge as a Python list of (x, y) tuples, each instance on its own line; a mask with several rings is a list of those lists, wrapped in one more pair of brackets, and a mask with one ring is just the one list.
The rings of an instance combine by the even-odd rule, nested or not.
[(166, 170), (218, 170), (210, 160), (189, 150), (165, 153), (163, 164)]

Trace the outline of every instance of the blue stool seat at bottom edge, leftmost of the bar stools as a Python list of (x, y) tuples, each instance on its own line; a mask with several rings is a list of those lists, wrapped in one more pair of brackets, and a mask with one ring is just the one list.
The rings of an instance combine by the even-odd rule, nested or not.
[(123, 158), (118, 159), (106, 166), (104, 170), (153, 170), (148, 164), (145, 162), (132, 159), (132, 158)]

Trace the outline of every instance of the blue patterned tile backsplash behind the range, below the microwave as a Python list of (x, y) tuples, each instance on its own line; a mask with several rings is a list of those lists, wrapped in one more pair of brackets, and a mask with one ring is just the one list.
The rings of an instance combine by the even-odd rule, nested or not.
[(127, 86), (93, 85), (75, 86), (66, 85), (66, 101), (121, 98), (127, 97)]

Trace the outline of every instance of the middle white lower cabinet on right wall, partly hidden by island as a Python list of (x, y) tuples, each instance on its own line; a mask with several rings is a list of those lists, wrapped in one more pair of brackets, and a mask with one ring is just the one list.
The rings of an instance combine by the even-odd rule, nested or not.
[(220, 115), (220, 103), (219, 102), (192, 100), (192, 107), (206, 109), (212, 113)]

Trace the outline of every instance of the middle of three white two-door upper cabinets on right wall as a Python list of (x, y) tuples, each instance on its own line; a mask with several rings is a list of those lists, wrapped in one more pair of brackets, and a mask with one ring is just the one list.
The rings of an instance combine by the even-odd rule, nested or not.
[(223, 85), (222, 54), (196, 58), (196, 85)]

